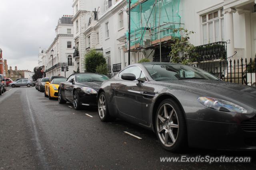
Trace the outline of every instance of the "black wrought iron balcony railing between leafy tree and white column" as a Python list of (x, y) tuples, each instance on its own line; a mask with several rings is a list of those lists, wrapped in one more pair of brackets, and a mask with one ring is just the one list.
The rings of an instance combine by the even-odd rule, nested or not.
[(216, 59), (227, 59), (226, 42), (216, 42), (196, 47), (196, 61), (213, 61)]

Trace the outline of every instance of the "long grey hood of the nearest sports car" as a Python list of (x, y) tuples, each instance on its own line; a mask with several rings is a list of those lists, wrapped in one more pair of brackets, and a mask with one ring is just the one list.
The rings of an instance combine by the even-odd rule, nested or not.
[(222, 98), (224, 100), (230, 98), (256, 109), (256, 88), (252, 86), (220, 80), (171, 80), (161, 81), (161, 83), (168, 83), (172, 88), (176, 86), (184, 91), (201, 96), (203, 94), (206, 97)]

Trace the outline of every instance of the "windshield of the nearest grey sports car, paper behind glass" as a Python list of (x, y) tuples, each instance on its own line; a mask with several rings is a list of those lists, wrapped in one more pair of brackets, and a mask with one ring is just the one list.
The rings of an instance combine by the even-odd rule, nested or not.
[(219, 80), (204, 70), (183, 64), (145, 64), (150, 76), (156, 80)]

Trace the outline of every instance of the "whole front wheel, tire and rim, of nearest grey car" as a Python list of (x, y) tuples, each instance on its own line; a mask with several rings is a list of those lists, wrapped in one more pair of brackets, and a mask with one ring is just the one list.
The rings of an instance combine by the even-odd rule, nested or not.
[(155, 117), (155, 131), (162, 147), (179, 152), (187, 147), (186, 121), (182, 109), (172, 99), (163, 100)]

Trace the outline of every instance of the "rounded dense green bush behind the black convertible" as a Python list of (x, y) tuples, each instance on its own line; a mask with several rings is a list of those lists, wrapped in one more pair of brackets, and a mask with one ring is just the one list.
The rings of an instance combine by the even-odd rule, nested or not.
[(97, 52), (95, 49), (92, 49), (84, 55), (84, 68), (86, 72), (96, 72), (97, 66), (102, 64), (106, 64), (106, 59), (104, 58), (103, 54)]

